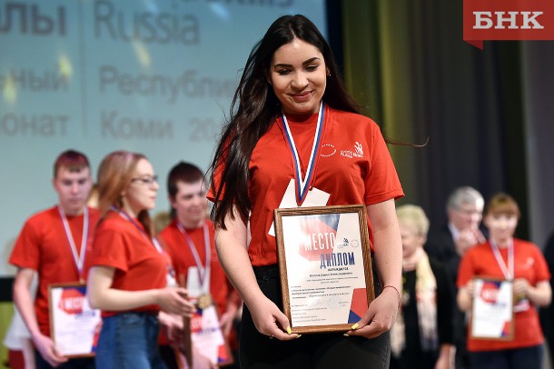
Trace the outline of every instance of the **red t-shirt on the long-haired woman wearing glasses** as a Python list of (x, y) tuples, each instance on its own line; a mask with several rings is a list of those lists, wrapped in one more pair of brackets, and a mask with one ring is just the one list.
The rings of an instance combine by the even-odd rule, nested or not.
[[(89, 256), (91, 266), (115, 268), (112, 288), (124, 291), (164, 288), (168, 260), (167, 254), (156, 249), (136, 219), (131, 222), (113, 211), (98, 224)], [(131, 311), (156, 313), (159, 310), (159, 305), (147, 305)], [(119, 313), (123, 312), (103, 311), (102, 315)]]

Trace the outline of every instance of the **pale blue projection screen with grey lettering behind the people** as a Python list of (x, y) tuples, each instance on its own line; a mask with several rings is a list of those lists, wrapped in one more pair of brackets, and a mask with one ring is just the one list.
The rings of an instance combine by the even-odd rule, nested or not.
[(0, 0), (0, 275), (25, 219), (57, 201), (55, 157), (116, 149), (148, 156), (165, 179), (207, 169), (241, 68), (279, 15), (326, 33), (324, 0)]

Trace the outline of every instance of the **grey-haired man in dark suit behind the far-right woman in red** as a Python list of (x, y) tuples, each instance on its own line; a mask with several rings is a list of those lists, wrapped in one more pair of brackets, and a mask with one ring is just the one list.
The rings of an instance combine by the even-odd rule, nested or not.
[[(430, 257), (439, 260), (447, 271), (450, 283), (457, 295), (456, 278), (458, 266), (463, 254), (475, 244), (485, 242), (480, 231), (485, 201), (476, 189), (470, 186), (456, 188), (449, 196), (446, 204), (448, 223), (438, 229), (431, 229), (425, 251)], [(465, 314), (454, 306), (454, 344), (456, 345), (456, 368), (469, 368), (469, 358), (466, 349)]]

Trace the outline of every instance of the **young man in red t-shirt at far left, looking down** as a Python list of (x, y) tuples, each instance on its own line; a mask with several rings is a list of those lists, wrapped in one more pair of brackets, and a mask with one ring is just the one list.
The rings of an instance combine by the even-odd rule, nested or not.
[[(93, 368), (92, 358), (68, 360), (56, 350), (48, 307), (49, 284), (84, 282), (84, 254), (99, 219), (98, 211), (86, 206), (93, 186), (86, 156), (74, 150), (59, 155), (52, 184), (58, 204), (27, 219), (9, 259), (17, 267), (14, 303), (38, 351), (37, 368), (60, 364)], [(33, 303), (31, 284), (35, 274), (38, 287)]]

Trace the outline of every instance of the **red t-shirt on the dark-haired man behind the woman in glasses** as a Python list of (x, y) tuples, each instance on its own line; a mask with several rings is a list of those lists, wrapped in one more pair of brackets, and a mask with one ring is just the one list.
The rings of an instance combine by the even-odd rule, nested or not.
[[(208, 234), (210, 237), (210, 294), (212, 294), (213, 301), (217, 306), (218, 312), (223, 314), (227, 310), (227, 301), (229, 294), (232, 290), (229, 288), (227, 276), (223, 272), (223, 267), (219, 264), (217, 259), (217, 253), (215, 251), (215, 244), (213, 241), (214, 228), (212, 222), (206, 220), (208, 226)], [(193, 246), (196, 249), (200, 261), (203, 265), (206, 262), (206, 249), (204, 242), (203, 227), (195, 229), (185, 229), (193, 241)], [(165, 244), (167, 253), (170, 254), (173, 261), (173, 269), (177, 275), (177, 282), (180, 281), (181, 275), (185, 278), (188, 276), (189, 267), (197, 266), (194, 261), (194, 255), (191, 251), (186, 238), (177, 227), (177, 220), (173, 219), (160, 233), (160, 238)]]

